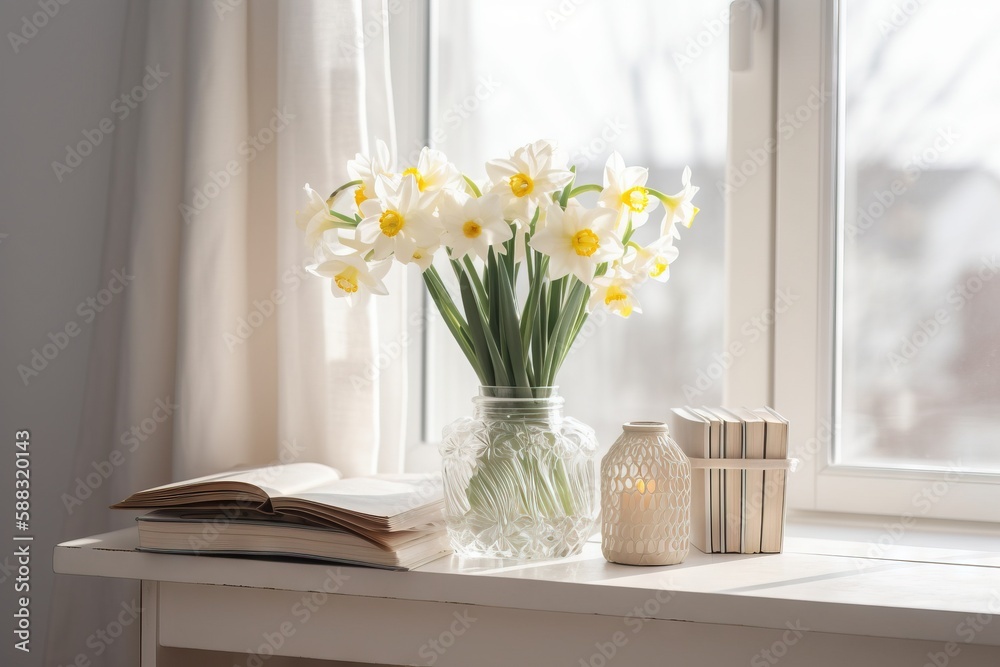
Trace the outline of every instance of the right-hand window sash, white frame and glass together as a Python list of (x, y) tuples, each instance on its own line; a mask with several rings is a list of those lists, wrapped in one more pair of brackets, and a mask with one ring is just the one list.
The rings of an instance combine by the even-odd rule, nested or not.
[(833, 100), (778, 148), (775, 282), (802, 292), (775, 330), (775, 402), (806, 464), (793, 506), (996, 520), (997, 17), (780, 5), (779, 130), (810, 94)]

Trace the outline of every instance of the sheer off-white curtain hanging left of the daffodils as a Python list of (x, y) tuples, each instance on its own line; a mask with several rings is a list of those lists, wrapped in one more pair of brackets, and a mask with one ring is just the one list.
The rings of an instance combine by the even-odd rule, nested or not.
[[(302, 269), (294, 223), (305, 182), (332, 189), (375, 137), (394, 142), (384, 10), (130, 3), (119, 87), (145, 95), (114, 137), (103, 259), (127, 287), (95, 322), (75, 450), (84, 478), (116, 450), (122, 463), (71, 508), (63, 539), (129, 525), (106, 508), (135, 490), (238, 465), (402, 469), (405, 354), (377, 360), (402, 335), (405, 272), (392, 296), (350, 309)], [(94, 659), (87, 637), (137, 596), (60, 577), (46, 664)], [(98, 662), (137, 664), (137, 637)]]

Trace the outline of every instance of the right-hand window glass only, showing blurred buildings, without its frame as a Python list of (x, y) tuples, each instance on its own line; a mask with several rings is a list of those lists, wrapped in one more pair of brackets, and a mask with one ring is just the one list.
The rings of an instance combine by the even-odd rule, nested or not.
[(1000, 5), (846, 5), (837, 459), (1000, 471)]

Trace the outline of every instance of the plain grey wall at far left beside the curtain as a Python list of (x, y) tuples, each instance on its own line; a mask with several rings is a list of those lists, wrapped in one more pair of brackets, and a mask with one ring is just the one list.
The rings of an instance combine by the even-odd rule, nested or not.
[[(47, 17), (40, 5), (49, 7)], [(93, 323), (76, 312), (106, 280), (99, 275), (111, 138), (60, 183), (51, 163), (67, 144), (109, 115), (118, 86), (127, 0), (4, 0), (0, 4), (0, 663), (41, 665), (52, 581), (52, 547), (70, 485)], [(37, 14), (37, 15), (36, 15)], [(11, 43), (24, 18), (43, 24)], [(128, 122), (127, 120), (124, 122)], [(70, 339), (37, 376), (22, 381), (48, 334), (77, 322)], [(51, 349), (49, 350), (51, 352)], [(14, 433), (31, 431), (31, 653), (11, 642), (12, 577), (3, 569), (13, 548)], [(67, 601), (56, 601), (56, 606)], [(81, 646), (81, 649), (84, 647)]]

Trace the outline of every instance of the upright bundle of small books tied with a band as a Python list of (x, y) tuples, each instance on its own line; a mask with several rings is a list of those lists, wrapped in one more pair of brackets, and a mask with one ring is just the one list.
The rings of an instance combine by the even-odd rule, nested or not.
[(771, 408), (674, 408), (671, 434), (691, 459), (691, 543), (705, 553), (779, 553), (788, 421)]

